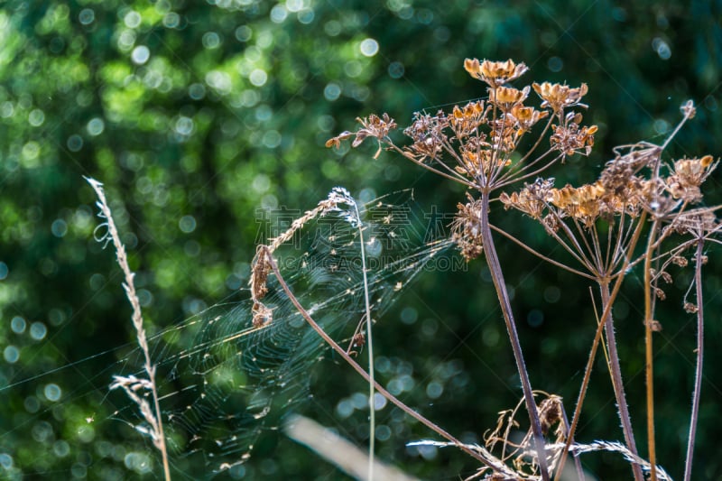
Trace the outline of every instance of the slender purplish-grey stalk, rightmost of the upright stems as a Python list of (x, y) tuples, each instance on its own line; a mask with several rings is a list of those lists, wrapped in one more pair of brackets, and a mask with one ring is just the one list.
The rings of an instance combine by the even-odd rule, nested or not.
[(699, 419), (699, 396), (702, 391), (702, 361), (704, 359), (704, 309), (702, 302), (702, 248), (704, 238), (697, 241), (695, 254), (694, 283), (697, 294), (697, 368), (694, 376), (694, 392), (692, 394), (692, 413), (690, 416), (690, 436), (687, 439), (687, 458), (684, 461), (684, 481), (692, 478), (692, 458), (694, 453), (694, 440), (697, 437), (697, 421)]

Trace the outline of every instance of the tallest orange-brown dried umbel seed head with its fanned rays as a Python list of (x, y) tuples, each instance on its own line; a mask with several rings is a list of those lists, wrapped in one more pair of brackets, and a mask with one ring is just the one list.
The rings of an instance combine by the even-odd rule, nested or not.
[[(532, 84), (521, 89), (505, 84), (518, 79), (528, 69), (513, 60), (467, 60), (467, 72), (486, 83), (488, 99), (470, 102), (466, 106), (453, 106), (450, 113), (438, 111), (435, 115), (414, 114), (412, 125), (403, 130), (411, 138), (410, 145), (396, 146), (388, 137), (396, 123), (387, 114), (358, 119), (362, 125), (356, 132), (344, 132), (329, 140), (327, 146), (355, 136), (356, 147), (368, 137), (375, 137), (381, 145), (402, 153), (404, 157), (437, 171), (444, 177), (457, 180), (476, 190), (492, 190), (528, 177), (537, 169), (547, 167), (572, 153), (588, 153), (594, 144), (595, 125), (582, 126), (579, 113), (569, 111), (580, 103), (587, 86), (569, 88), (547, 82)], [(539, 108), (527, 106), (532, 90), (542, 99)], [(542, 161), (529, 160), (534, 144), (525, 154), (518, 151), (526, 135), (540, 120), (549, 117), (544, 129), (553, 129), (551, 149), (556, 156)], [(556, 124), (552, 124), (556, 121)], [(378, 153), (376, 153), (378, 155)], [(540, 157), (547, 157), (542, 155)]]

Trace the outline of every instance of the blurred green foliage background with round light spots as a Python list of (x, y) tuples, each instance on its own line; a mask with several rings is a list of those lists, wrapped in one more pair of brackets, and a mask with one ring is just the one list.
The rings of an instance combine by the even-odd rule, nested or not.
[[(715, 0), (5, 2), (2, 476), (160, 476), (150, 443), (113, 415), (127, 402), (107, 392), (134, 333), (113, 255), (94, 240), (95, 200), (82, 176), (106, 185), (148, 328), (157, 332), (245, 285), (259, 209), (305, 210), (343, 184), (354, 194), (412, 187), (421, 205), (452, 211), (462, 193), (449, 182), (390, 154), (373, 160), (373, 146), (330, 151), (323, 143), (352, 129), (356, 116), (388, 112), (406, 125), (414, 111), (484, 96), (461, 68), (466, 57), (513, 58), (527, 63), (531, 79), (588, 83), (587, 120), (600, 127), (597, 147), (589, 158), (568, 162), (558, 173), (562, 180), (593, 178), (617, 144), (659, 142), (688, 98), (699, 105), (698, 116), (673, 152), (717, 156), (720, 18)], [(374, 43), (366, 39), (378, 50), (368, 50)], [(709, 202), (719, 200), (718, 179), (708, 181)], [(495, 221), (551, 249), (526, 219), (499, 212)], [(708, 252), (712, 273), (718, 252)], [(500, 246), (500, 255), (532, 384), (562, 395), (571, 412), (595, 327), (588, 286), (514, 245)], [(521, 395), (481, 265), (425, 274), (379, 325), (375, 347), (396, 372), (412, 373), (416, 384), (405, 402), (470, 440), (481, 439), (495, 413)], [(658, 457), (672, 476), (681, 476), (689, 422), (695, 329), (680, 310), (689, 279), (680, 273), (671, 287), (656, 340)], [(629, 284), (616, 321), (646, 453), (640, 296), (634, 276)], [(714, 368), (722, 341), (715, 313), (722, 306), (714, 275), (706, 291), (710, 348), (695, 477), (715, 479), (722, 476), (716, 443), (722, 375)], [(456, 384), (430, 397), (437, 387), (430, 391), (429, 384), (445, 382), (449, 373)], [(363, 444), (362, 413), (341, 421), (335, 411), (338, 402), (364, 392), (363, 383), (329, 356), (311, 373), (311, 384), (312, 402), (301, 410)], [(600, 361), (578, 439), (621, 439), (613, 399)], [(474, 463), (457, 452), (409, 454), (403, 442), (430, 436), (417, 424), (383, 416), (380, 422), (400, 426), (379, 443), (382, 458), (429, 479), (473, 473)], [(251, 478), (342, 476), (278, 433), (256, 451), (246, 471)], [(588, 455), (584, 463), (601, 479), (629, 475), (611, 455)], [(191, 477), (203, 472), (178, 466), (194, 469), (186, 473)]]

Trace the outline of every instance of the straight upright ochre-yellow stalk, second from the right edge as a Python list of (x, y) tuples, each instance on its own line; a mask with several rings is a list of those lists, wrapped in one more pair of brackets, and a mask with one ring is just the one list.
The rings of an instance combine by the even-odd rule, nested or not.
[(657, 481), (657, 453), (654, 445), (654, 375), (652, 351), (652, 257), (654, 239), (659, 227), (659, 221), (654, 220), (649, 233), (647, 250), (644, 253), (644, 373), (646, 377), (647, 396), (647, 445), (649, 447), (649, 463), (652, 465), (650, 479)]

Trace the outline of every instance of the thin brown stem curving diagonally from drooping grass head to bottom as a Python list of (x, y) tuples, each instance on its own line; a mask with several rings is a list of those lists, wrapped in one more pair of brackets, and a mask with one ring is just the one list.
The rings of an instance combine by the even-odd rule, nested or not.
[(269, 251), (268, 247), (265, 245), (262, 245), (259, 248), (259, 255), (264, 256), (264, 261), (268, 263), (268, 265), (271, 267), (271, 270), (276, 276), (276, 279), (278, 279), (279, 284), (282, 287), (283, 292), (286, 293), (289, 300), (291, 300), (293, 306), (296, 308), (296, 310), (301, 313), (301, 316), (303, 319), (306, 319), (306, 322), (309, 323), (310, 327), (315, 330), (320, 338), (322, 338), (336, 353), (338, 356), (341, 356), (344, 361), (347, 362), (348, 365), (354, 368), (354, 370), (363, 377), (367, 383), (373, 384), (375, 387), (375, 390), (377, 393), (380, 393), (384, 396), (389, 402), (392, 402), (396, 407), (401, 409), (403, 412), (411, 416), (416, 421), (421, 422), (424, 426), (429, 428), (430, 430), (436, 432), (444, 439), (449, 439), (451, 443), (453, 443), (455, 446), (458, 447), (458, 449), (461, 449), (465, 453), (467, 453), (472, 458), (477, 459), (481, 463), (483, 463), (485, 466), (491, 466), (488, 460), (486, 458), (479, 455), (474, 449), (469, 449), (466, 444), (462, 443), (460, 440), (456, 439), (454, 436), (452, 436), (449, 432), (442, 429), (440, 426), (438, 426), (433, 421), (430, 421), (429, 419), (422, 416), (420, 413), (414, 411), (411, 407), (403, 403), (400, 399), (398, 399), (396, 396), (394, 396), (392, 393), (389, 393), (384, 389), (384, 386), (381, 384), (378, 384), (375, 380), (371, 379), (371, 376), (366, 373), (363, 367), (356, 363), (356, 361), (353, 359), (353, 357), (349, 356), (346, 352), (346, 350), (343, 347), (338, 346), (338, 343), (331, 338), (323, 328), (319, 326), (319, 324), (310, 317), (310, 314), (307, 310), (303, 308), (301, 305), (301, 302), (299, 302), (298, 299), (296, 299), (296, 296), (293, 295), (293, 292), (291, 291), (291, 288), (289, 285), (285, 282), (281, 275), (281, 271), (278, 269), (278, 264), (276, 264), (275, 259), (273, 259), (273, 255), (271, 255), (271, 252)]

